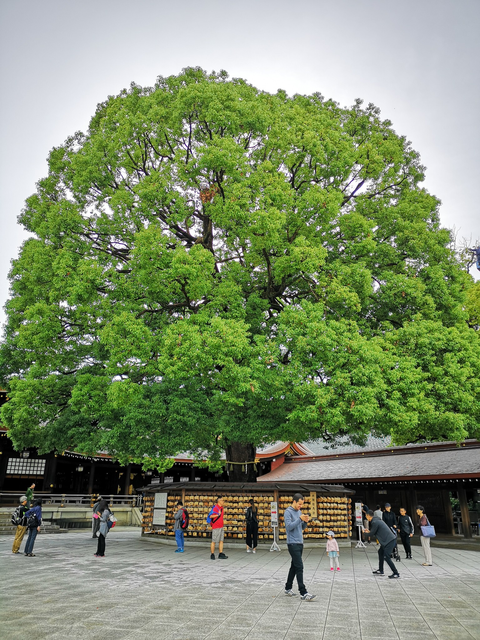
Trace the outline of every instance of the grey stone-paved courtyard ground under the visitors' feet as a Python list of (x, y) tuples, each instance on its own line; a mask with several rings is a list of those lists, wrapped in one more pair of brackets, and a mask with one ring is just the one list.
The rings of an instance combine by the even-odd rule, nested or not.
[(3, 536), (2, 639), (480, 639), (476, 551), (435, 548), (434, 566), (423, 567), (414, 547), (401, 580), (389, 580), (372, 575), (374, 545), (342, 551), (340, 573), (323, 550), (305, 550), (305, 583), (318, 597), (301, 602), (284, 596), (286, 550), (229, 549), (214, 562), (208, 549), (175, 554), (128, 528), (109, 533), (103, 559), (88, 531), (39, 537), (36, 557), (11, 546)]

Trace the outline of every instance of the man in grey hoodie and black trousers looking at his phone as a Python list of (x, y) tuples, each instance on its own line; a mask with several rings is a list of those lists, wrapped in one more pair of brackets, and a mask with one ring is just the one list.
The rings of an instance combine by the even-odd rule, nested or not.
[(302, 506), (303, 495), (295, 493), (292, 505), (287, 507), (284, 513), (287, 548), (292, 559), (287, 582), (285, 583), (285, 595), (296, 598), (296, 593), (292, 591), (293, 580), (296, 576), (300, 599), (314, 600), (317, 596), (308, 593), (305, 584), (303, 584), (303, 561), (301, 559), (301, 554), (303, 553), (303, 529), (307, 528), (307, 522), (310, 518), (308, 514), (303, 515), (301, 513)]

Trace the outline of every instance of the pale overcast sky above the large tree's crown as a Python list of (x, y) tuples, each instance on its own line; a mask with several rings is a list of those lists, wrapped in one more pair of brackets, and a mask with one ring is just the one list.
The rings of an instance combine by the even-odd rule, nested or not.
[(0, 0), (0, 12), (1, 307), (49, 149), (132, 80), (186, 66), (374, 102), (420, 152), (444, 225), (480, 236), (480, 0)]

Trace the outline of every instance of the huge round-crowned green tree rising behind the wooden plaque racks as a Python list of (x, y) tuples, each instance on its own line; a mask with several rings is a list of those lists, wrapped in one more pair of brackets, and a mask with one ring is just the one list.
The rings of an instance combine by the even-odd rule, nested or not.
[[(253, 461), (278, 439), (479, 435), (471, 279), (377, 108), (199, 68), (49, 155), (1, 348), (17, 446)], [(236, 465), (230, 477), (253, 479)]]

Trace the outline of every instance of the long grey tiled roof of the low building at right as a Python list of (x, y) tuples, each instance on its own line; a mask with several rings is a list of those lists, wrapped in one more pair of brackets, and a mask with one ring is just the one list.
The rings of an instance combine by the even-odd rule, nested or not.
[[(298, 459), (297, 459), (298, 460)], [(324, 458), (305, 462), (286, 462), (258, 482), (348, 482), (378, 478), (455, 476), (480, 477), (480, 447), (385, 453), (377, 456)]]

